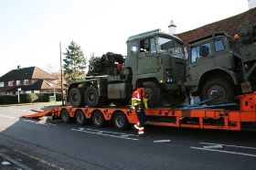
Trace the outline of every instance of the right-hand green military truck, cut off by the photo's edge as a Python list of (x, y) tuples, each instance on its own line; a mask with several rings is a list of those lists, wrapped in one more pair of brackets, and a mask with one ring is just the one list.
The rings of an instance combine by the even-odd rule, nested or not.
[(193, 96), (219, 104), (256, 90), (256, 26), (243, 27), (238, 40), (222, 32), (188, 44), (187, 87)]

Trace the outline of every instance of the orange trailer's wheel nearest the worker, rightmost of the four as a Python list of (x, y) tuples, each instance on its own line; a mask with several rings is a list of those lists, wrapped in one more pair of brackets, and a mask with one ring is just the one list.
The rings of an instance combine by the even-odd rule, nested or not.
[(117, 112), (114, 114), (113, 119), (112, 119), (112, 123), (114, 125), (114, 127), (118, 130), (125, 130), (128, 127), (128, 120), (125, 116), (125, 114), (123, 114), (123, 112)]

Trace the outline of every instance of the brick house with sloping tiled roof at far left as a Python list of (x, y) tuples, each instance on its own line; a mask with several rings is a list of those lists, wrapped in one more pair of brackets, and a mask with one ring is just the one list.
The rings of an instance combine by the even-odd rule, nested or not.
[(12, 69), (0, 78), (0, 94), (39, 93), (61, 90), (57, 80), (48, 72), (37, 67)]

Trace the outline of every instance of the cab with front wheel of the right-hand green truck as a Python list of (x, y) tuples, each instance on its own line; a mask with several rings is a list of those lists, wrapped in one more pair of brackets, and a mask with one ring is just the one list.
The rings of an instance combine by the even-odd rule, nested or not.
[(215, 33), (188, 43), (187, 86), (208, 103), (234, 101), (243, 80), (240, 50), (226, 33)]

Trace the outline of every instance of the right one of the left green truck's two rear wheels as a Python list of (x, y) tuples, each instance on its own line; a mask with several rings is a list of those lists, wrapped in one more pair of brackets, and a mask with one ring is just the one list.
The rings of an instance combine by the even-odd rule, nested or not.
[(100, 104), (100, 97), (98, 90), (94, 87), (89, 87), (87, 90), (84, 92), (84, 100), (85, 104), (88, 105), (89, 107), (97, 107)]

